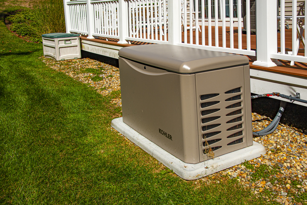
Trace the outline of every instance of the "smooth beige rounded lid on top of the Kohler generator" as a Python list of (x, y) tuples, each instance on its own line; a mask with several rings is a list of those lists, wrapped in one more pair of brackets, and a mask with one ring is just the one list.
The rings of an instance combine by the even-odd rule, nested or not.
[(121, 48), (119, 56), (177, 73), (195, 73), (248, 64), (246, 56), (170, 44)]

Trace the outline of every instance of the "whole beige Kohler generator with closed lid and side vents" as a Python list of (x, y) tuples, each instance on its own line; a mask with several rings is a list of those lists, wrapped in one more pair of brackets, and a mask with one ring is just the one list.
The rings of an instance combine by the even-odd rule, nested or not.
[(186, 163), (253, 145), (246, 56), (169, 44), (119, 50), (123, 122)]

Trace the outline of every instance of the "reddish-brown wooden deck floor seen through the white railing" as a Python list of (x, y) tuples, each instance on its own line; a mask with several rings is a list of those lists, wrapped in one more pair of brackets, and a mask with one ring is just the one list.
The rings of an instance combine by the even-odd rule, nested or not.
[[(205, 45), (208, 45), (208, 26), (205, 26), (204, 30), (201, 28), (201, 31), (205, 32)], [(202, 44), (202, 32), (198, 32), (199, 44)], [(193, 31), (192, 35), (193, 35), (193, 44), (195, 44), (196, 43), (196, 40), (195, 40), (196, 31)], [(278, 47), (280, 47), (280, 33), (278, 33), (277, 36), (278, 36), (277, 45)], [(146, 33), (146, 37), (147, 37), (147, 33)], [(86, 38), (86, 37), (81, 37), (81, 38)], [(166, 38), (168, 39), (167, 33), (166, 33)], [(182, 42), (184, 42), (184, 32), (181, 32), (181, 38), (182, 38)], [(151, 35), (150, 35), (150, 39), (151, 39)], [(158, 35), (158, 40), (159, 39), (160, 39), (160, 35)], [(247, 35), (242, 34), (242, 49), (247, 48), (246, 39), (247, 39)], [(285, 39), (286, 39), (286, 48), (287, 48), (286, 50), (292, 49), (292, 29), (286, 29)], [(108, 41), (107, 41), (107, 38), (105, 37), (99, 37), (98, 39), (88, 39), (88, 40), (99, 41), (99, 42), (107, 43), (107, 44), (117, 44), (117, 42), (119, 41), (118, 39), (111, 39), (111, 38), (108, 38)], [(164, 36), (162, 36), (162, 40), (164, 40)], [(222, 27), (219, 27), (219, 46), (220, 47), (223, 46), (222, 40), (223, 40)], [(187, 31), (187, 43), (190, 43), (189, 30)], [(132, 46), (132, 45), (141, 45), (141, 44), (149, 44), (149, 43), (145, 43), (142, 41), (132, 41), (131, 44), (121, 44), (121, 46)], [(215, 46), (214, 26), (212, 26), (212, 46)], [(226, 47), (230, 48), (230, 28), (229, 27), (226, 27)], [(238, 29), (236, 28), (234, 28), (234, 48), (238, 48)], [(300, 48), (303, 48), (302, 44), (300, 45)], [(256, 35), (255, 34), (251, 34), (251, 49), (252, 50), (256, 49)], [(303, 55), (302, 52), (304, 51), (303, 50), (299, 51), (298, 55)], [(266, 67), (252, 65), (252, 63), (256, 60), (255, 56), (247, 56), (247, 57), (250, 59), (251, 68), (307, 77), (307, 64), (306, 63), (295, 62), (294, 66), (290, 66), (290, 61), (279, 60), (283, 64), (282, 66), (266, 68)]]

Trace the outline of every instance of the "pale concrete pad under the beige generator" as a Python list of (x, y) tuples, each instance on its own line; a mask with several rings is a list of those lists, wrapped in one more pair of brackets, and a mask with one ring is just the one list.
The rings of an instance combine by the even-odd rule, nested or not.
[(164, 149), (133, 130), (130, 126), (122, 122), (122, 118), (113, 119), (111, 126), (185, 180), (196, 180), (234, 165), (241, 164), (245, 160), (260, 157), (261, 154), (266, 153), (263, 145), (254, 142), (252, 146), (215, 157), (214, 159), (197, 164), (188, 164), (166, 152)]

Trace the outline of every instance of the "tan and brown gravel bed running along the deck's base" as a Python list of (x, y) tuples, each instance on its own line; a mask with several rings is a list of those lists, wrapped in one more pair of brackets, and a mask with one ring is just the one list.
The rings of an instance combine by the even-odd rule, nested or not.
[[(41, 60), (50, 68), (94, 87), (104, 96), (111, 91), (120, 90), (119, 69), (114, 66), (88, 58), (54, 61), (41, 57)], [(115, 106), (122, 104), (120, 98), (112, 99), (111, 103)], [(271, 121), (270, 118), (256, 113), (252, 113), (252, 120), (253, 131), (263, 129)], [(254, 141), (265, 146), (265, 155), (200, 180), (218, 180), (220, 176), (228, 176), (235, 178), (267, 202), (306, 204), (307, 135), (295, 127), (279, 124), (272, 134), (255, 137)]]

